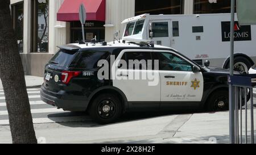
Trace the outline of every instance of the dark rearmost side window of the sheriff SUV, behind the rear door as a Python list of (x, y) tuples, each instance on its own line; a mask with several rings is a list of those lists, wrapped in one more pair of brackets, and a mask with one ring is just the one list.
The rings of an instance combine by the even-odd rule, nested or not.
[(98, 67), (98, 61), (106, 60), (109, 52), (82, 52), (81, 58), (77, 63), (77, 68), (94, 69)]

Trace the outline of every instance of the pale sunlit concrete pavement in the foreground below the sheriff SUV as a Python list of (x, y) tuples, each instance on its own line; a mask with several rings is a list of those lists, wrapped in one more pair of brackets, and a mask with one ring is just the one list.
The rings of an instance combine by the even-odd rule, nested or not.
[[(254, 110), (255, 115), (256, 111)], [(256, 119), (254, 119), (255, 123)], [(34, 124), (34, 127), (38, 139), (44, 139), (46, 143), (229, 143), (228, 111), (157, 116), (108, 125), (98, 125), (88, 120)], [(244, 127), (243, 125), (243, 141), (245, 138)], [(249, 118), (248, 130), (250, 130)], [(11, 143), (9, 126), (0, 126), (0, 133), (0, 143)], [(255, 130), (254, 133), (256, 133)], [(248, 134), (250, 135), (250, 132)], [(250, 141), (249, 135), (248, 140)]]

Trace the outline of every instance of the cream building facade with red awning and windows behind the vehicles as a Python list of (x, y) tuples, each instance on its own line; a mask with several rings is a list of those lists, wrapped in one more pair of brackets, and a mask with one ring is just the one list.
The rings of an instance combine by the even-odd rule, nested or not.
[(27, 75), (43, 76), (58, 45), (82, 40), (79, 4), (88, 20), (85, 39), (112, 41), (122, 36), (123, 19), (140, 14), (209, 14), (230, 12), (230, 1), (217, 0), (11, 0), (11, 15)]

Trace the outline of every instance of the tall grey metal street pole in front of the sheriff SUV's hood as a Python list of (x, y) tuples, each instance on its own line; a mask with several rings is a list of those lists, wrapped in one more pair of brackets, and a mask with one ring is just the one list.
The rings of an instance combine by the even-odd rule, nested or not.
[[(234, 75), (234, 7), (235, 0), (231, 0), (231, 20), (230, 20), (230, 76)], [(235, 143), (234, 134), (234, 87), (229, 84), (229, 138), (230, 143)]]

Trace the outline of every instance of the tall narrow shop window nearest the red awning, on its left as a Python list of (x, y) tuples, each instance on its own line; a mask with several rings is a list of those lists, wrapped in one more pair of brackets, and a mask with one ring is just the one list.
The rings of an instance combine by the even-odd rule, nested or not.
[(31, 52), (48, 52), (49, 0), (35, 0), (31, 3)]

